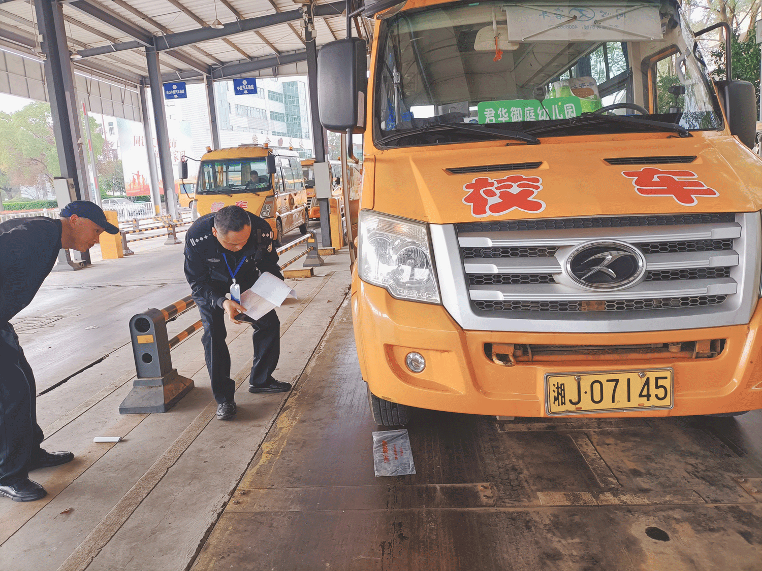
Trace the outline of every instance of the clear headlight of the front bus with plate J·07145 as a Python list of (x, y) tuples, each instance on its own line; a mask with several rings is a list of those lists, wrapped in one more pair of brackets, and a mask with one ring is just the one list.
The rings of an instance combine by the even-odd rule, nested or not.
[(395, 298), (440, 303), (427, 225), (363, 210), (358, 228), (360, 279)]

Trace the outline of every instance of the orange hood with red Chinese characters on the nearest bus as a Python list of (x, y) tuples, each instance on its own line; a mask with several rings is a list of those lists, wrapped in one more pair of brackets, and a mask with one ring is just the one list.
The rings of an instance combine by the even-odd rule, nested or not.
[(657, 137), (381, 152), (363, 207), (433, 224), (762, 208), (762, 160), (736, 139)]

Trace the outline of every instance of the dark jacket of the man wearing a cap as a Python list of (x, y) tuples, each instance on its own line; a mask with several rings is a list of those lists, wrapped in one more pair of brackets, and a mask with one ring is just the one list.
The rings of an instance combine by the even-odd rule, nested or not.
[(27, 307), (61, 250), (61, 221), (38, 216), (0, 223), (0, 324)]

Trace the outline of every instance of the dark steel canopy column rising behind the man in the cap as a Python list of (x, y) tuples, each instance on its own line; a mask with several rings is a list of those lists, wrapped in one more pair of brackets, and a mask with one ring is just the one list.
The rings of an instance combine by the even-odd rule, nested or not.
[[(74, 70), (66, 43), (62, 6), (56, 0), (34, 2), (41, 46), (45, 54), (45, 78), (53, 117), (53, 136), (61, 176), (74, 180), (77, 199), (91, 199), (82, 126), (77, 108)], [(61, 205), (66, 206), (66, 205)]]

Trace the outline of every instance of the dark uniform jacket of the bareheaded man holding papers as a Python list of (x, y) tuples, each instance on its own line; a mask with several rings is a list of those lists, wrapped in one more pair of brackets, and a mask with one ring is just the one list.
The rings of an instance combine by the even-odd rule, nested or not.
[[(223, 307), (225, 295), (232, 285), (225, 257), (233, 272), (242, 257), (246, 257), (235, 274), (235, 282), (241, 286), (241, 292), (251, 288), (262, 272), (270, 272), (283, 279), (272, 228), (258, 215), (247, 214), (251, 219), (251, 236), (238, 252), (226, 250), (212, 234), (214, 212), (201, 216), (188, 229), (185, 236), (185, 277), (191, 284), (191, 292), (198, 305)], [(261, 232), (258, 233), (258, 229)]]

